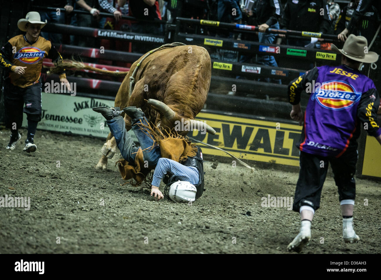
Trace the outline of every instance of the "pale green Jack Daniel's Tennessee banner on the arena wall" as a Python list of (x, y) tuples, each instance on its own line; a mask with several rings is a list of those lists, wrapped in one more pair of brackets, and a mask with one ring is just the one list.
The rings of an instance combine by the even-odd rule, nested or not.
[[(114, 101), (43, 92), (42, 120), (37, 129), (106, 138), (110, 132), (106, 120), (91, 109), (99, 106), (112, 107)], [(27, 126), (25, 117), (22, 126)]]

